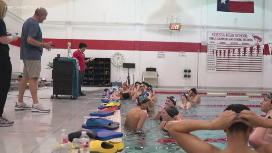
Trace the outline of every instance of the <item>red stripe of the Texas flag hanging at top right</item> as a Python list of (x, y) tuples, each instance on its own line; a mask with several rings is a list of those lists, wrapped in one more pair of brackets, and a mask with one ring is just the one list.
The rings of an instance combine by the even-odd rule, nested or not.
[(230, 2), (230, 12), (254, 13), (254, 2)]

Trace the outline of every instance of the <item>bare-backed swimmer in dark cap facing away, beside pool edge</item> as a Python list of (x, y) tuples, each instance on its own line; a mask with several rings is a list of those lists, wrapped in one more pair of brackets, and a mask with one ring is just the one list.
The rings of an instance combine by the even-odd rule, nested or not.
[(146, 121), (147, 115), (143, 110), (148, 106), (150, 99), (146, 94), (141, 94), (138, 99), (138, 103), (135, 108), (132, 108), (126, 114), (125, 127), (136, 128), (136, 130), (141, 130), (144, 122)]

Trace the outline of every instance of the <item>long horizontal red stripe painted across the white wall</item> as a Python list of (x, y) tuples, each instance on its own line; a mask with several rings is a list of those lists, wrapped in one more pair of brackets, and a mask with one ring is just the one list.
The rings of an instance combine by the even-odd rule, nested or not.
[[(158, 41), (123, 41), (123, 40), (87, 40), (87, 39), (49, 39), (55, 49), (66, 49), (67, 43), (72, 43), (72, 49), (78, 49), (79, 44), (84, 42), (90, 50), (138, 50), (138, 51), (186, 51), (186, 52), (207, 52), (206, 46), (201, 43), (192, 42), (158, 42)], [(20, 47), (21, 39), (12, 42), (11, 45)]]

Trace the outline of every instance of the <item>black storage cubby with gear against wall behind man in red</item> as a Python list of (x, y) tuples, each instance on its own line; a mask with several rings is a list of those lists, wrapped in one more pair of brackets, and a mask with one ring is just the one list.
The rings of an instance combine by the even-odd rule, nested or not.
[(109, 87), (110, 64), (110, 58), (95, 58), (94, 61), (86, 63), (83, 86)]

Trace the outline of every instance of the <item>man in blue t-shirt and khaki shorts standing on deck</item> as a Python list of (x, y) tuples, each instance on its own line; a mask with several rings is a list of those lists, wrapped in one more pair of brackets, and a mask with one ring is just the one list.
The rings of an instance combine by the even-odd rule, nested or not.
[[(41, 56), (43, 48), (51, 50), (52, 42), (44, 43), (42, 41), (42, 31), (39, 23), (44, 22), (47, 17), (47, 10), (38, 8), (35, 14), (27, 19), (22, 27), (21, 34), (21, 52), (20, 59), (23, 60), (23, 78), (19, 86), (18, 102), (15, 103), (15, 110), (28, 110), (32, 112), (50, 112), (50, 109), (44, 109), (38, 101), (38, 79), (41, 73)], [(29, 82), (30, 92), (33, 99), (32, 106), (23, 102), (24, 91)]]

